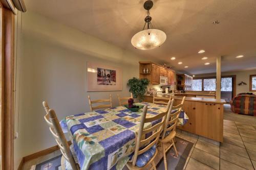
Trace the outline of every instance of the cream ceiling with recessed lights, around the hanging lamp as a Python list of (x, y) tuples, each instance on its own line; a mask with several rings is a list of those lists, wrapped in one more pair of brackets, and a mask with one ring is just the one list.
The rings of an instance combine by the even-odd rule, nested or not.
[[(142, 0), (25, 0), (34, 11), (67, 26), (111, 42), (138, 55), (158, 59), (188, 74), (216, 71), (216, 56), (223, 56), (222, 71), (256, 69), (255, 0), (155, 0), (154, 28), (167, 39), (153, 50), (131, 44), (144, 26)], [(218, 25), (212, 22), (219, 20)], [(206, 52), (198, 54), (204, 49)], [(243, 58), (234, 58), (245, 55)], [(170, 57), (176, 60), (170, 60)], [(201, 60), (202, 57), (207, 60)], [(182, 61), (183, 64), (177, 63)], [(210, 62), (210, 65), (204, 65)], [(188, 68), (184, 68), (188, 66)]]

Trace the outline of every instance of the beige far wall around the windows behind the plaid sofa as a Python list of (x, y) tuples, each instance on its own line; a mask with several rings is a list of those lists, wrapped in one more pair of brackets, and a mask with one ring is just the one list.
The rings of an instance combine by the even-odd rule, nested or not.
[[(230, 76), (230, 75), (236, 75), (237, 76), (237, 94), (243, 93), (243, 92), (252, 92), (249, 91), (249, 77), (250, 75), (255, 75), (256, 70), (248, 70), (248, 71), (234, 71), (234, 72), (222, 72), (222, 76)], [(205, 74), (205, 75), (196, 75), (197, 77), (210, 77), (210, 76), (216, 76), (216, 74)], [(239, 86), (238, 84), (241, 83), (241, 81), (245, 82), (247, 85)], [(255, 91), (253, 91), (254, 94), (256, 94)]]

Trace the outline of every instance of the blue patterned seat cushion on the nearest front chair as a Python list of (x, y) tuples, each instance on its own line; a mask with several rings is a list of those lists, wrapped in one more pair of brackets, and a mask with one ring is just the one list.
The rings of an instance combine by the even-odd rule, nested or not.
[[(138, 167), (145, 166), (153, 158), (155, 153), (156, 153), (156, 144), (154, 144), (153, 147), (151, 147), (151, 149), (147, 150), (143, 154), (138, 155), (138, 158), (136, 161), (136, 166), (138, 166)], [(134, 153), (132, 155), (130, 155), (131, 159), (133, 158), (133, 155), (134, 155)]]

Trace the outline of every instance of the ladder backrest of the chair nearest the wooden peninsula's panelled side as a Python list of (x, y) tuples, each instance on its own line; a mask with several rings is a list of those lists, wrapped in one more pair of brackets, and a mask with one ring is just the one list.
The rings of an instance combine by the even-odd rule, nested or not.
[[(170, 104), (170, 107), (168, 109), (168, 113), (167, 113), (167, 117), (165, 120), (165, 124), (164, 124), (164, 129), (163, 129), (163, 134), (162, 134), (162, 139), (165, 138), (165, 133), (167, 131), (175, 131), (176, 130), (176, 125), (178, 122), (178, 118), (180, 115), (180, 112), (182, 110), (182, 106), (184, 104), (185, 101), (185, 96), (182, 98), (181, 104), (177, 105), (177, 106), (173, 106), (174, 105), (174, 99), (172, 99), (172, 103)], [(172, 113), (174, 111), (174, 113)]]

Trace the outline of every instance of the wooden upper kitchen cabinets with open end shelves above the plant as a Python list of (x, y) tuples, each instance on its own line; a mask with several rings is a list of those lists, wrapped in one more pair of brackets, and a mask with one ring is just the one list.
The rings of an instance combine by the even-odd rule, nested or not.
[(150, 84), (160, 84), (160, 76), (168, 79), (168, 84), (175, 84), (175, 71), (164, 68), (150, 61), (140, 61), (140, 78), (147, 78)]

